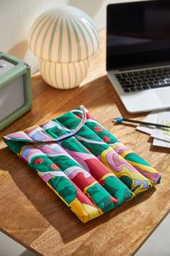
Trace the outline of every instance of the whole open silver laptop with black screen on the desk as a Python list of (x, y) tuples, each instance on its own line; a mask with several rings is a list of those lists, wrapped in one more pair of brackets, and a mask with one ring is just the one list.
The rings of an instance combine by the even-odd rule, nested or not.
[(107, 6), (107, 74), (128, 112), (170, 107), (170, 1)]

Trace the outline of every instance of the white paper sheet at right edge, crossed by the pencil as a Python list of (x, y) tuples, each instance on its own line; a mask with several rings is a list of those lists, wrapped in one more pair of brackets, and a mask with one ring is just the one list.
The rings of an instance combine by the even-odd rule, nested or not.
[[(158, 114), (158, 123), (170, 126), (170, 110)], [(170, 128), (156, 128), (153, 130), (153, 133), (151, 133), (151, 137), (170, 142)]]

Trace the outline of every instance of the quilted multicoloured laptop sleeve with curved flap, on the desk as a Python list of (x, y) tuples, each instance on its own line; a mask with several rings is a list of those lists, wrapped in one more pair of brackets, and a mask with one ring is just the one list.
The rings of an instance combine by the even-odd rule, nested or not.
[(4, 141), (83, 222), (161, 181), (156, 169), (120, 143), (83, 106), (8, 134)]

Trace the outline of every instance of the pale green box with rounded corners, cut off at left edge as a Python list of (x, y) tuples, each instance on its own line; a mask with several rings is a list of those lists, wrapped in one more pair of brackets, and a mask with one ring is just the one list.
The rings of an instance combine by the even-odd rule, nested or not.
[(0, 52), (0, 131), (30, 110), (30, 65)]

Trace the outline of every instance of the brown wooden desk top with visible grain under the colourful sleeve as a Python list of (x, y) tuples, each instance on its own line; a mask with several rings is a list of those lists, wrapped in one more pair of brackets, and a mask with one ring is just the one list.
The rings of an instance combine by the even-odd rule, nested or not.
[(61, 91), (35, 75), (32, 110), (1, 131), (0, 136), (43, 123), (83, 104), (120, 141), (162, 172), (162, 182), (114, 211), (83, 224), (1, 140), (1, 231), (37, 255), (133, 255), (170, 208), (170, 150), (151, 146), (149, 136), (135, 131), (134, 125), (111, 123), (113, 116), (140, 120), (146, 114), (128, 114), (117, 97), (105, 75), (104, 42), (102, 32), (101, 47), (91, 59), (84, 86)]

